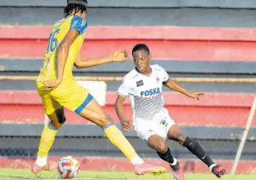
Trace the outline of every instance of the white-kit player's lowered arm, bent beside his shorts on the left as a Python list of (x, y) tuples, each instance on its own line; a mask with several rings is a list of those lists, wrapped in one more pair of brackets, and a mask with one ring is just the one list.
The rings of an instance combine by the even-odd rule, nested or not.
[(124, 109), (123, 109), (123, 103), (126, 100), (126, 97), (122, 97), (121, 95), (117, 96), (117, 100), (115, 103), (117, 116), (120, 120), (120, 123), (122, 124), (122, 129), (126, 132), (130, 132), (132, 130), (132, 124), (130, 121), (126, 120), (126, 117), (124, 115)]

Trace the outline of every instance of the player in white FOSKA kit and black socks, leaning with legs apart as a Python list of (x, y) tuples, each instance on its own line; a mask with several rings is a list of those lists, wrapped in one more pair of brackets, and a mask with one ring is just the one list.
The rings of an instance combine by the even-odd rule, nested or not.
[[(155, 149), (161, 159), (169, 162), (174, 178), (183, 180), (184, 174), (179, 162), (172, 156), (165, 140), (176, 140), (203, 161), (218, 178), (225, 174), (220, 165), (215, 165), (211, 157), (205, 153), (198, 142), (183, 135), (181, 128), (169, 116), (164, 108), (162, 86), (169, 87), (189, 98), (201, 99), (201, 92), (185, 90), (169, 78), (168, 73), (159, 65), (150, 65), (151, 54), (146, 44), (137, 44), (132, 50), (135, 68), (127, 73), (119, 87), (116, 100), (116, 111), (123, 130), (130, 132), (133, 128), (139, 138), (144, 140), (151, 149)], [(126, 119), (122, 103), (130, 98), (133, 109), (133, 123)]]

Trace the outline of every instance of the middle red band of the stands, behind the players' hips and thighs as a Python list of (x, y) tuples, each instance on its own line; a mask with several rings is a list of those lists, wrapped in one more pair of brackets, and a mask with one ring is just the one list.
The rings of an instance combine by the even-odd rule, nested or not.
[[(115, 93), (108, 92), (104, 110), (118, 123), (114, 109)], [(181, 125), (214, 125), (244, 127), (254, 100), (254, 94), (207, 94), (201, 101), (182, 94), (164, 93), (165, 107), (171, 117)], [(14, 113), (15, 111), (15, 113)], [(132, 111), (128, 98), (126, 115)], [(66, 110), (66, 123), (88, 123), (74, 112)], [(35, 91), (0, 91), (0, 122), (44, 123), (41, 98)], [(256, 117), (252, 126), (256, 127)]]

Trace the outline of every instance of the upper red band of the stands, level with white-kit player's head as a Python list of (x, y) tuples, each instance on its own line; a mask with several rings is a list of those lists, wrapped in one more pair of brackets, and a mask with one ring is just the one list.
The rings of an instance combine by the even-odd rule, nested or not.
[[(42, 58), (49, 31), (0, 26), (0, 56)], [(137, 43), (146, 43), (157, 60), (256, 61), (256, 28), (89, 27), (81, 53), (107, 56)]]

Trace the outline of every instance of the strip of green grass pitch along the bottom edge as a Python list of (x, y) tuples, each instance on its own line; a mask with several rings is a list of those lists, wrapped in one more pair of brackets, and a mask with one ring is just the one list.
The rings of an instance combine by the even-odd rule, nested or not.
[[(24, 179), (40, 179), (40, 180), (59, 180), (56, 172), (42, 172), (39, 175), (33, 175), (30, 170), (14, 170), (14, 169), (0, 169), (1, 180), (24, 180)], [(136, 176), (132, 173), (108, 172), (108, 171), (81, 171), (77, 178), (78, 180), (171, 180), (172, 174), (162, 174), (154, 176), (151, 174)], [(216, 180), (212, 174), (186, 174), (186, 180)], [(254, 175), (226, 175), (224, 180), (255, 180)]]

